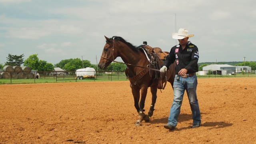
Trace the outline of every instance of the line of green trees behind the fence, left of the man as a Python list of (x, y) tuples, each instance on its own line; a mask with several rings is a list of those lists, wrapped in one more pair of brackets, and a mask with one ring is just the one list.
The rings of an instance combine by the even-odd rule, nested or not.
[[(55, 67), (62, 68), (66, 71), (76, 71), (80, 68), (94, 68), (95, 70), (102, 71), (98, 68), (96, 64), (91, 64), (89, 60), (81, 60), (80, 58), (70, 58), (61, 60), (57, 64), (51, 64), (46, 62), (45, 60), (40, 60), (38, 58), (38, 54), (32, 54), (30, 55), (26, 60), (24, 60), (24, 54), (21, 55), (12, 55), (8, 54), (6, 57), (6, 62), (4, 65), (0, 64), (0, 69), (2, 70), (4, 66), (21, 66), (22, 64), (24, 66), (30, 67), (32, 70), (36, 71), (54, 71)], [(125, 64), (119, 64), (119, 63), (111, 63), (110, 66), (108, 66), (107, 71), (124, 71), (126, 69)]]

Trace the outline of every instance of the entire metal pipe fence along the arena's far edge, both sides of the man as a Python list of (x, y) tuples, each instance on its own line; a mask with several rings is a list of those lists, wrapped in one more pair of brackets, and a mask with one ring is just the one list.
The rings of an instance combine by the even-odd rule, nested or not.
[[(17, 77), (16, 72), (6, 72), (7, 77), (0, 74), (0, 84), (26, 84), (26, 83), (53, 83), (53, 82), (99, 82), (99, 81), (123, 81), (128, 80), (124, 71), (94, 71), (93, 76), (78, 76), (75, 71), (47, 71), (26, 72), (32, 73), (32, 77)], [(37, 76), (38, 75), (38, 76)], [(256, 77), (255, 71), (236, 72), (222, 71), (200, 71), (196, 73), (198, 78), (238, 78)]]

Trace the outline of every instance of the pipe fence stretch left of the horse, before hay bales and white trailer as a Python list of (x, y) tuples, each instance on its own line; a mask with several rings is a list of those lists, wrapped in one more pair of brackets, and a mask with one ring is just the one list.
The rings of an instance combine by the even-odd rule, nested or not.
[[(89, 72), (89, 71), (84, 71)], [(92, 71), (91, 71), (92, 72)], [(97, 82), (127, 80), (124, 71), (93, 71), (92, 75), (80, 76), (76, 71), (43, 71), (31, 72), (32, 77), (14, 77), (15, 72), (6, 72), (7, 77), (0, 75), (0, 84), (52, 83), (52, 82)]]

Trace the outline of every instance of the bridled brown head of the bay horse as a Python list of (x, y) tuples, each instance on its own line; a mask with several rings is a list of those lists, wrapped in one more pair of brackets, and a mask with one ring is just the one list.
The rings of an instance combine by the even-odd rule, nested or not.
[(114, 39), (113, 38), (106, 38), (106, 44), (103, 48), (102, 55), (100, 58), (100, 62), (98, 66), (104, 70), (108, 67), (108, 65), (112, 62), (112, 60), (116, 59), (117, 54), (114, 48)]

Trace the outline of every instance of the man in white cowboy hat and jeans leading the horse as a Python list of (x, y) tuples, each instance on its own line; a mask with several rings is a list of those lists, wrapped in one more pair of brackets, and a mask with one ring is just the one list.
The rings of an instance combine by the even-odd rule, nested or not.
[(177, 39), (180, 44), (171, 48), (170, 53), (166, 56), (164, 65), (160, 68), (160, 72), (166, 72), (170, 64), (176, 60), (176, 75), (173, 84), (174, 98), (170, 108), (168, 124), (164, 125), (164, 128), (169, 130), (174, 130), (177, 125), (185, 90), (188, 94), (192, 111), (193, 125), (191, 128), (197, 128), (201, 124), (200, 110), (196, 96), (196, 72), (198, 72), (197, 62), (199, 55), (197, 46), (188, 41), (188, 38), (192, 36), (194, 34), (188, 34), (188, 30), (185, 28), (180, 28), (178, 33), (173, 33), (172, 38)]

